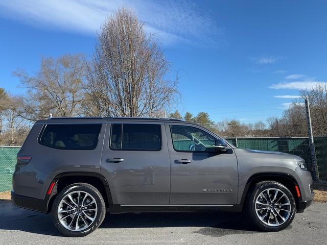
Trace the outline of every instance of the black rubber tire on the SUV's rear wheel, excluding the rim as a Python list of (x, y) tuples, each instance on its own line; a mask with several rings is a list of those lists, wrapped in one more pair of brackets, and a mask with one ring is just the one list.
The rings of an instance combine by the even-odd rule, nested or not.
[[(68, 230), (67, 228), (65, 228), (60, 223), (58, 213), (57, 213), (57, 210), (58, 210), (61, 200), (67, 194), (74, 192), (74, 191), (83, 191), (83, 192), (90, 194), (92, 196), (92, 198), (94, 198), (94, 200), (96, 202), (96, 207), (97, 207), (97, 213), (94, 214), (94, 216), (95, 216), (94, 221), (91, 222), (89, 227), (87, 227), (85, 230), (81, 230), (81, 231), (72, 231), (72, 230)], [(57, 197), (52, 205), (51, 212), (52, 212), (53, 223), (60, 233), (62, 233), (64, 236), (80, 237), (80, 236), (86, 236), (86, 235), (90, 234), (91, 232), (95, 231), (101, 225), (101, 223), (103, 222), (104, 217), (106, 215), (106, 205), (105, 205), (105, 202), (103, 200), (101, 193), (99, 192), (99, 190), (97, 188), (95, 188), (94, 186), (92, 186), (90, 184), (86, 184), (86, 183), (75, 183), (75, 184), (65, 187), (64, 189), (62, 189), (60, 191), (60, 193), (57, 195)], [(83, 222), (83, 220), (82, 220), (82, 222)]]

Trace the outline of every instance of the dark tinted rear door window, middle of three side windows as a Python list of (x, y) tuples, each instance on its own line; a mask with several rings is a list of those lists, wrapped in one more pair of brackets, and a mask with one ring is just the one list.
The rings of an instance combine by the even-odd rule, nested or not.
[(110, 148), (158, 151), (161, 148), (160, 127), (154, 124), (113, 124)]

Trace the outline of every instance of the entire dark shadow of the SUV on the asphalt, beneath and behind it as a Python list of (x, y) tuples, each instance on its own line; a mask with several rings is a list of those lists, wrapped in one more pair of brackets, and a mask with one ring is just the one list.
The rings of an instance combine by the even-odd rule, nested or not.
[[(18, 230), (62, 236), (50, 215), (15, 207), (10, 200), (0, 201), (0, 230)], [(239, 213), (107, 213), (99, 229), (199, 227), (202, 235), (223, 236), (259, 232)]]

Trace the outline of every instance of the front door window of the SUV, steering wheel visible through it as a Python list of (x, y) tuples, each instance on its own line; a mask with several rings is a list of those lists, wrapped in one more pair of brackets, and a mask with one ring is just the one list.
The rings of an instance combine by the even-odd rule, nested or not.
[(215, 151), (215, 138), (207, 132), (190, 126), (171, 126), (173, 146), (176, 151)]

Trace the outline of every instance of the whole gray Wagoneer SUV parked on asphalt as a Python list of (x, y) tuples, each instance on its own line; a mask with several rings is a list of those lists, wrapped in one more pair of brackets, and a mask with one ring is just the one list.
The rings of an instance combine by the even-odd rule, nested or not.
[(66, 236), (91, 233), (106, 211), (245, 211), (279, 231), (312, 203), (311, 184), (302, 158), (237, 149), (191, 122), (52, 118), (22, 145), (11, 196)]

